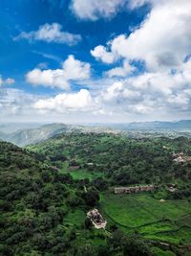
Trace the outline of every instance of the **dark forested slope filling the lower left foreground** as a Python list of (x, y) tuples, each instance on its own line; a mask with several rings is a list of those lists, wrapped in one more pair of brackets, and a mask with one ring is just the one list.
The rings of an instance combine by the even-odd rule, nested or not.
[(0, 142), (1, 255), (151, 254), (140, 237), (117, 235), (112, 225), (109, 232), (94, 230), (86, 212), (98, 202), (96, 188), (40, 160), (39, 154)]

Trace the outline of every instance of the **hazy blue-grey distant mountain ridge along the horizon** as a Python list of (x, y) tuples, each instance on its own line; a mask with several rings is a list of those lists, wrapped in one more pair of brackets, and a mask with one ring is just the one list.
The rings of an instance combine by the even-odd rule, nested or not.
[[(142, 137), (147, 134), (153, 134), (155, 132), (164, 134), (169, 133), (175, 136), (191, 136), (191, 120), (180, 120), (178, 122), (139, 122), (129, 124), (100, 124), (90, 126), (80, 125), (66, 125), (66, 124), (46, 124), (40, 126), (38, 124), (33, 125), (32, 128), (21, 128), (21, 125), (15, 125), (15, 131), (11, 132), (12, 128), (5, 132), (6, 126), (0, 125), (0, 139), (9, 141), (18, 146), (26, 146), (35, 144), (40, 141), (49, 139), (54, 135), (67, 132), (112, 132), (126, 133), (130, 137)], [(28, 124), (30, 127), (30, 124)], [(9, 132), (10, 131), (10, 132)]]

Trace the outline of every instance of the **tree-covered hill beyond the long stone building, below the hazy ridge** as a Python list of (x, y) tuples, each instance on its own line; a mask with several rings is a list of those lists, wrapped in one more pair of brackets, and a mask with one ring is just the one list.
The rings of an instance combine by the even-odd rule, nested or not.
[[(118, 185), (136, 183), (188, 183), (191, 163), (177, 164), (173, 153), (191, 154), (191, 139), (130, 139), (115, 134), (60, 134), (45, 142), (29, 146), (42, 153), (63, 171), (76, 165), (87, 173), (106, 177)], [(74, 172), (71, 172), (73, 175)]]

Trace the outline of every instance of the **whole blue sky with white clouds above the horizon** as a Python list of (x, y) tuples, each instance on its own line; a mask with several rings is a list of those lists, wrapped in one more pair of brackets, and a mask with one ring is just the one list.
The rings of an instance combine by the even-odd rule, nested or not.
[(0, 122), (191, 117), (190, 0), (0, 1)]

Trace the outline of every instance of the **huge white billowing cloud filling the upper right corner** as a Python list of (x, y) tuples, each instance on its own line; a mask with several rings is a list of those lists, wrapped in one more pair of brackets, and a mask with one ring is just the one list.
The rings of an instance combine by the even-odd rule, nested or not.
[(129, 36), (118, 35), (110, 41), (110, 51), (105, 51), (104, 55), (116, 56), (113, 60), (143, 60), (150, 71), (179, 67), (190, 55), (191, 2), (172, 0), (156, 3), (139, 28)]

